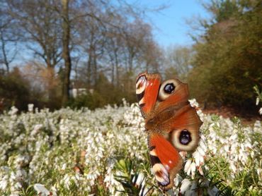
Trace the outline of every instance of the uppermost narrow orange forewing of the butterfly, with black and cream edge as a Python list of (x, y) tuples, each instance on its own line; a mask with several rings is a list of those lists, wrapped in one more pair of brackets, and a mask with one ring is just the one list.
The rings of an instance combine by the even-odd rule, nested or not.
[(137, 102), (144, 118), (147, 118), (147, 115), (152, 111), (156, 104), (160, 84), (161, 76), (157, 73), (140, 73), (137, 77)]

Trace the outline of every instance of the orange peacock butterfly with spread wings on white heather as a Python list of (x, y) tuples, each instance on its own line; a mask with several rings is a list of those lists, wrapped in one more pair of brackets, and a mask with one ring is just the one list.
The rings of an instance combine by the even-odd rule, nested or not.
[(188, 102), (188, 85), (178, 79), (161, 82), (159, 73), (140, 73), (136, 94), (145, 119), (152, 171), (159, 186), (169, 190), (183, 166), (178, 152), (198, 146), (202, 121)]

